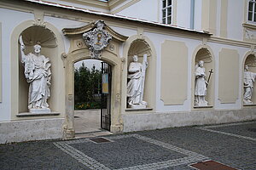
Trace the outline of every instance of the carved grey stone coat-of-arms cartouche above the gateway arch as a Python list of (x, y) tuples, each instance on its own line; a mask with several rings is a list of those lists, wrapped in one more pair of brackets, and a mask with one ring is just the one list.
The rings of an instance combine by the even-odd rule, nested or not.
[(95, 28), (92, 31), (85, 32), (83, 39), (90, 49), (90, 56), (92, 59), (101, 59), (102, 49), (108, 46), (112, 36), (108, 31), (104, 30), (105, 23), (102, 20), (96, 21)]

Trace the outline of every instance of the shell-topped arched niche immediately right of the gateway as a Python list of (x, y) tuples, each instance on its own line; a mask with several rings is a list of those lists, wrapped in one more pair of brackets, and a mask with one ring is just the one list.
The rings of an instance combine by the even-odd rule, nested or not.
[[(144, 84), (144, 94), (143, 100), (148, 102), (148, 108), (154, 108), (154, 62), (153, 62), (153, 55), (148, 42), (143, 39), (136, 39), (135, 41), (131, 42), (131, 46), (128, 50), (128, 57), (127, 57), (127, 73), (129, 69), (129, 65), (132, 62), (132, 56), (138, 56), (138, 62), (143, 63), (143, 54), (148, 55), (148, 68), (146, 70), (146, 77), (145, 77), (145, 84)], [(127, 74), (128, 75), (128, 74)], [(127, 80), (128, 82), (128, 80)], [(126, 107), (127, 107), (127, 99), (126, 99)]]

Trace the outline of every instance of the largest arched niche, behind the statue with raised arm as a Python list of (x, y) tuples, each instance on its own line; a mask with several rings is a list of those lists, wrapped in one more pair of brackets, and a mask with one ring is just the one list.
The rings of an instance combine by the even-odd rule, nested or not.
[[(59, 111), (57, 101), (60, 100), (58, 99), (58, 94), (60, 94), (61, 88), (58, 86), (58, 82), (61, 76), (58, 76), (58, 46), (55, 34), (44, 26), (30, 26), (22, 31), (20, 36), (22, 36), (23, 42), (26, 45), (25, 54), (33, 53), (33, 46), (38, 43), (42, 47), (41, 54), (49, 58), (52, 76), (48, 104), (51, 111)], [(20, 52), (20, 44), (18, 44), (18, 47)], [(24, 66), (21, 64), (20, 59), (21, 57), (19, 57), (19, 113), (28, 112), (29, 88), (29, 83), (26, 82), (24, 76)]]

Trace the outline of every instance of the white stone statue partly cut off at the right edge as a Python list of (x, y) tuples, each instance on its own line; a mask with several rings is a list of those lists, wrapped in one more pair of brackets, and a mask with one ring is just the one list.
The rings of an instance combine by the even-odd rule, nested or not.
[(253, 82), (255, 81), (255, 78), (256, 78), (256, 73), (249, 71), (248, 65), (245, 65), (244, 77), (243, 77), (243, 88), (244, 88), (243, 103), (246, 105), (253, 104), (251, 99), (253, 95)]

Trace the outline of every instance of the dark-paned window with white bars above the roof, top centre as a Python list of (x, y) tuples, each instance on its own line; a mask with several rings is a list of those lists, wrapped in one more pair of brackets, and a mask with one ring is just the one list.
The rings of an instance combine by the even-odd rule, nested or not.
[(172, 0), (162, 0), (162, 20), (163, 24), (172, 24)]

